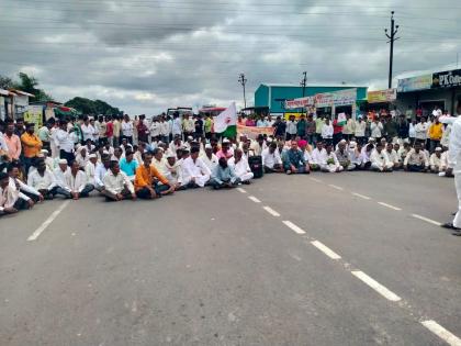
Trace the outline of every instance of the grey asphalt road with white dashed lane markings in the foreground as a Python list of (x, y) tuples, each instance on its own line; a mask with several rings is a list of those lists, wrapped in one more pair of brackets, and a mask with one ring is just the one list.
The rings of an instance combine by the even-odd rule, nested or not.
[(461, 345), (456, 209), (404, 172), (47, 202), (0, 219), (0, 345)]

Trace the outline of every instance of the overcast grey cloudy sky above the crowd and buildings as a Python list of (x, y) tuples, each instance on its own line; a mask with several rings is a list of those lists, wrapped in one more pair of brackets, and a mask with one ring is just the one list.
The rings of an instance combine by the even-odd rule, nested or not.
[(386, 87), (395, 74), (461, 66), (459, 0), (1, 0), (0, 74), (32, 74), (58, 101), (130, 114), (247, 103), (261, 82)]

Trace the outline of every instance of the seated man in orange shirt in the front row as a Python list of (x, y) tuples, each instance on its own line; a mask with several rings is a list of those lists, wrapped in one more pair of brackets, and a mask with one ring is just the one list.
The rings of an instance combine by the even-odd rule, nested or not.
[(173, 193), (175, 187), (169, 185), (168, 179), (160, 175), (151, 161), (153, 155), (149, 152), (143, 153), (143, 165), (136, 168), (134, 180), (136, 196), (142, 199), (155, 199)]

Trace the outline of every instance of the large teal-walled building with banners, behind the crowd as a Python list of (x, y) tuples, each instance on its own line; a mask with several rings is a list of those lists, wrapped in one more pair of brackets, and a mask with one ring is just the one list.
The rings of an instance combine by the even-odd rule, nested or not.
[[(351, 85), (308, 85), (304, 90), (304, 97), (313, 97), (318, 93), (335, 92), (347, 89), (357, 89), (357, 100), (367, 99), (368, 87)], [(303, 97), (303, 87), (296, 85), (261, 83), (255, 91), (255, 108), (267, 108), (272, 115), (286, 112), (285, 101)], [(301, 110), (300, 110), (301, 111)], [(327, 112), (327, 109), (324, 109)], [(337, 109), (338, 111), (338, 109)], [(351, 109), (345, 112), (351, 112)], [(290, 112), (294, 112), (291, 110)]]

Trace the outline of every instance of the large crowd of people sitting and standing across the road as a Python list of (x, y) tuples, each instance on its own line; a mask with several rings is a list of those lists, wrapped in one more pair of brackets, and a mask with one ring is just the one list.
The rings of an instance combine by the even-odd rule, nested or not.
[[(213, 133), (211, 116), (49, 119), (36, 131), (0, 123), (0, 214), (56, 197), (106, 201), (157, 199), (210, 186), (234, 188), (263, 174), (406, 170), (452, 176), (450, 126), (423, 116), (259, 118), (271, 134)], [(239, 123), (246, 122), (239, 116)], [(261, 126), (262, 127), (262, 126)]]

